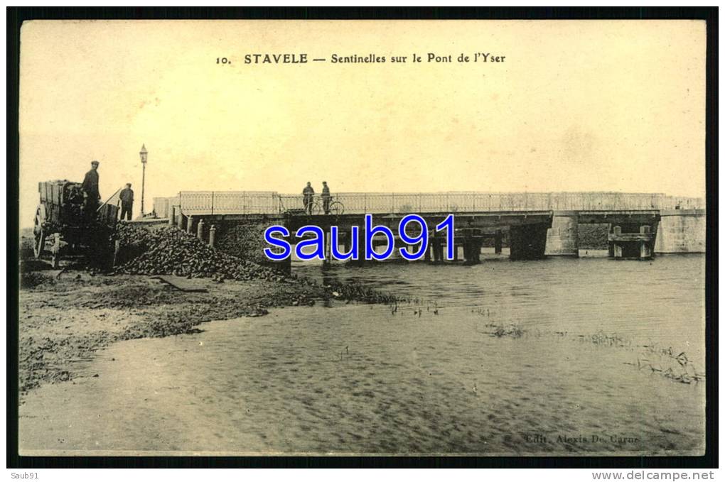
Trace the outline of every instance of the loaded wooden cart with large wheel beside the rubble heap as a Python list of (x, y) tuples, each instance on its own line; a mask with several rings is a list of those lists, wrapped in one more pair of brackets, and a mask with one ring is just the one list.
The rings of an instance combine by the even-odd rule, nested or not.
[(65, 250), (100, 263), (109, 254), (112, 259), (118, 206), (88, 203), (79, 182), (40, 182), (38, 191), (40, 204), (33, 226), (36, 258), (49, 252), (54, 268)]

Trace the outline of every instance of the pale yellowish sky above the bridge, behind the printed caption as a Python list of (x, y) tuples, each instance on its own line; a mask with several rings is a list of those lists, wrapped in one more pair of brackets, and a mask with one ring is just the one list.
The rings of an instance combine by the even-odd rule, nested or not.
[[(455, 62), (476, 51), (505, 62)], [(244, 64), (254, 53), (310, 62)], [(80, 182), (94, 159), (101, 195), (131, 182), (138, 212), (141, 144), (146, 211), (179, 190), (299, 193), (308, 180), (333, 192), (704, 196), (705, 22), (25, 23), (21, 227), (39, 181)]]

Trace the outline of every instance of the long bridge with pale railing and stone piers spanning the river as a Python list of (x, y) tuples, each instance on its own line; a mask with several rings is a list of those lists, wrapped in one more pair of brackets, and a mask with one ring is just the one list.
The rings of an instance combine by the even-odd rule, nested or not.
[[(334, 193), (330, 214), (322, 212), (319, 196), (312, 213), (305, 211), (302, 195), (273, 191), (182, 191), (170, 198), (154, 198), (154, 213), (218, 248), (249, 256), (254, 246), (257, 261), (262, 232), (283, 224), (292, 233), (305, 224), (339, 227), (341, 244), (349, 249), (352, 226), (364, 226), (364, 214), (375, 224), (392, 229), (407, 213), (423, 216), (428, 226), (455, 214), (455, 255), (479, 261), (481, 245), (489, 240), (497, 253), (504, 239), (511, 259), (537, 259), (545, 255), (579, 254), (579, 224), (608, 224), (608, 245), (613, 258), (650, 258), (663, 253), (704, 252), (705, 201), (663, 193)], [(661, 229), (658, 229), (661, 228)], [(658, 235), (658, 232), (660, 233)], [(415, 233), (410, 231), (410, 235)], [(426, 259), (442, 261), (445, 241), (431, 236)], [(241, 253), (238, 246), (247, 246)], [(360, 243), (358, 244), (360, 245)], [(328, 247), (329, 248), (329, 247)]]

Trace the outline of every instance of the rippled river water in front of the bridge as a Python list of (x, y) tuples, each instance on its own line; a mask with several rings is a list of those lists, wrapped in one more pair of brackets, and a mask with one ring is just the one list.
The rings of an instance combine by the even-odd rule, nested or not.
[(114, 344), (74, 383), (28, 397), (21, 451), (702, 454), (704, 255), (582, 254), (296, 262), (319, 282), (411, 301), (276, 309)]

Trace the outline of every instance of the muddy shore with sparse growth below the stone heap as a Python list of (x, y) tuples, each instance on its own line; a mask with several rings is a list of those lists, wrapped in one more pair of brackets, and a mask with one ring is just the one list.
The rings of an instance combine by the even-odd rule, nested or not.
[(191, 333), (206, 321), (262, 316), (266, 308), (331, 297), (330, 287), (304, 280), (195, 279), (194, 284), (207, 292), (182, 292), (149, 276), (21, 265), (21, 402), (40, 384), (72, 381), (76, 363), (113, 342)]

